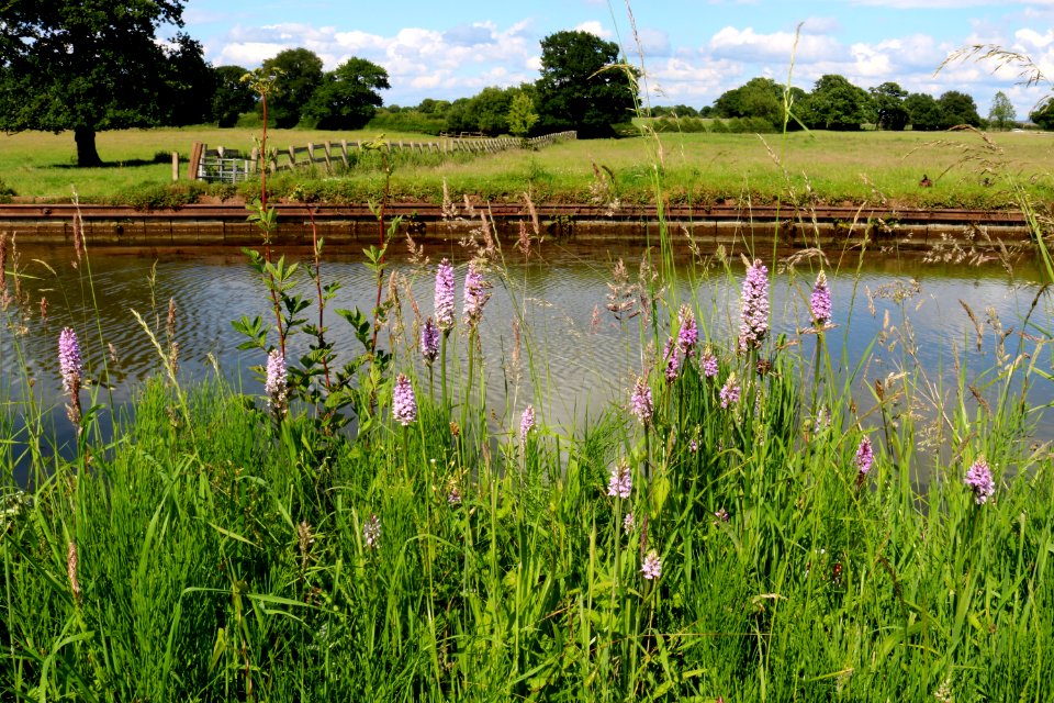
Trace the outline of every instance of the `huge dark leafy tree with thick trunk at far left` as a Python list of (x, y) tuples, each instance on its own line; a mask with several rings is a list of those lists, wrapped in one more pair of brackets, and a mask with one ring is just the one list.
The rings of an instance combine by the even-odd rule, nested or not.
[(168, 57), (162, 24), (184, 0), (7, 0), (0, 11), (0, 130), (72, 130), (78, 166), (99, 166), (96, 133), (158, 124)]

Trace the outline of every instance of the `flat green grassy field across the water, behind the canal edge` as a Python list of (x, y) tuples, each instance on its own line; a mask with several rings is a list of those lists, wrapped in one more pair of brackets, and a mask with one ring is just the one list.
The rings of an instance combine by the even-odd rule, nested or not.
[[(18, 198), (68, 200), (76, 188), (86, 202), (120, 202), (124, 193), (170, 183), (167, 155), (172, 150), (186, 163), (194, 141), (248, 150), (258, 135), (258, 131), (208, 127), (104, 132), (98, 137), (99, 154), (112, 166), (83, 170), (72, 166), (69, 133), (0, 135), (0, 179)], [(279, 148), (377, 136), (375, 132), (269, 132), (270, 144)], [(385, 136), (434, 140), (414, 134)], [(650, 202), (658, 165), (665, 197), (696, 204), (812, 198), (833, 204), (887, 200), (921, 208), (1001, 208), (1012, 204), (1007, 177), (1022, 182), (1039, 199), (1054, 199), (1054, 134), (996, 133), (990, 140), (971, 132), (815, 132), (765, 135), (764, 141), (751, 134), (708, 133), (663, 134), (661, 141), (580, 141), (538, 152), (404, 159), (395, 163), (392, 193), (404, 200), (438, 202), (446, 179), (458, 199), (470, 193), (484, 200), (516, 200), (529, 191), (537, 201)], [(606, 169), (614, 174), (614, 182)], [(601, 180), (597, 172), (603, 175)], [(923, 175), (933, 181), (932, 188), (919, 186)], [(375, 168), (273, 181), (277, 196), (299, 186), (301, 193), (337, 201), (375, 197), (381, 183)], [(223, 194), (229, 196), (229, 189)]]

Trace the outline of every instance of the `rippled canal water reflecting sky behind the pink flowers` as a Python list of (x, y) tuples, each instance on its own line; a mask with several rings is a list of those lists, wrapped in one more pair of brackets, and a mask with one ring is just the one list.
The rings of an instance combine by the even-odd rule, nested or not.
[[(608, 283), (615, 260), (625, 258), (632, 282), (638, 277), (640, 254), (553, 252), (550, 247), (545, 260), (535, 259), (526, 266), (511, 264), (504, 284), (496, 275), (490, 276), (495, 287), (480, 334), (487, 403), (498, 426), (514, 427), (527, 402), (535, 404), (547, 424), (565, 428), (612, 400), (626, 402), (633, 375), (641, 371), (648, 353), (641, 346), (647, 335), (641, 333), (640, 316), (619, 322), (605, 306), (609, 302)], [(435, 264), (438, 256), (430, 256)], [(22, 250), (22, 284), (30, 304), (9, 306), (0, 330), (0, 397), (18, 400), (32, 394), (51, 413), (60, 444), (68, 442), (69, 432), (61, 411), (64, 400), (55, 359), (59, 331), (67, 325), (77, 331), (88, 376), (101, 382), (97, 387), (100, 398), (109, 401), (112, 395), (120, 405), (133, 397), (144, 379), (161, 372), (158, 352), (131, 311), (143, 315), (164, 345), (170, 298), (177, 309), (181, 378), (206, 378), (218, 370), (244, 392), (260, 393), (259, 382), (247, 369), (264, 364), (265, 356), (259, 350), (237, 349), (244, 338), (233, 330), (231, 321), (243, 315), (260, 315), (265, 321), (272, 317), (266, 288), (240, 253), (152, 259), (108, 256), (100, 250), (92, 254), (90, 265), (81, 261), (76, 267), (70, 259), (70, 253), (65, 250)], [(400, 297), (407, 330), (412, 330), (411, 298), (423, 315), (433, 312), (431, 269), (415, 269), (406, 260), (394, 259), (392, 266), (405, 277)], [(834, 299), (833, 322), (838, 325), (827, 338), (832, 358), (844, 358), (850, 372), (857, 369), (870, 350), (853, 386), (862, 406), (873, 402), (870, 389), (876, 378), (905, 367), (920, 368), (934, 383), (943, 382), (945, 392), (950, 392), (961, 365), (967, 381), (983, 388), (997, 361), (1000, 325), (1010, 331), (1003, 347), (1011, 358), (1018, 354), (1019, 345), (1023, 344), (1025, 352), (1034, 350), (1035, 344), (1020, 336), (1023, 319), (1040, 291), (1035, 282), (1040, 272), (1028, 265), (1017, 263), (1013, 277), (998, 264), (976, 267), (878, 257), (867, 260), (859, 272), (855, 267), (855, 259), (841, 270), (827, 267)], [(808, 326), (808, 293), (815, 264), (811, 271), (807, 261), (799, 265), (796, 274), (775, 268), (774, 333), (787, 334), (792, 345), (799, 344), (801, 354), (810, 356), (815, 337), (797, 332)], [(459, 305), (463, 276), (463, 261), (458, 261)], [(717, 345), (727, 345), (738, 326), (736, 306), (741, 277), (739, 263), (732, 267), (731, 276), (715, 267), (694, 284), (683, 271), (679, 286), (665, 289), (663, 298), (668, 304), (694, 301), (700, 311), (703, 334)], [(336, 300), (330, 301), (329, 311), (358, 306), (368, 312), (372, 308), (375, 281), (359, 260), (329, 257), (324, 263), (323, 278), (343, 284)], [(310, 292), (305, 277), (301, 280), (302, 290)], [(13, 290), (10, 272), (8, 286)], [(41, 298), (48, 302), (46, 319), (41, 317)], [(960, 301), (971, 308), (982, 326), (980, 350), (976, 346), (975, 324)], [(598, 320), (594, 319), (594, 310), (599, 311)], [(522, 347), (518, 366), (513, 364), (516, 342), (512, 322), (518, 316), (516, 311), (525, 320), (520, 332), (530, 348), (528, 354), (527, 346)], [(314, 314), (313, 309), (309, 312)], [(665, 313), (661, 317), (664, 323)], [(1050, 317), (1050, 303), (1043, 300), (1032, 322), (1049, 328)], [(330, 313), (326, 322), (344, 360), (361, 350), (341, 319)], [(1040, 334), (1035, 328), (1027, 332)], [(391, 331), (382, 331), (380, 338), (390, 346)], [(289, 356), (303, 350), (304, 342), (301, 337), (301, 344), (294, 345)], [(402, 354), (400, 364), (405, 364), (402, 359), (416, 358), (416, 354), (407, 355), (404, 349)], [(463, 355), (453, 361), (460, 362), (460, 370), (464, 371)], [(1038, 365), (1051, 370), (1049, 350)], [(418, 378), (426, 379), (427, 375), (422, 372)], [(532, 383), (532, 378), (538, 382)], [(989, 393), (994, 390), (989, 389)], [(1035, 384), (1029, 400), (1035, 405), (1052, 402), (1054, 383)], [(18, 411), (20, 406), (14, 408)], [(1041, 420), (1038, 432), (1054, 437), (1054, 424)]]

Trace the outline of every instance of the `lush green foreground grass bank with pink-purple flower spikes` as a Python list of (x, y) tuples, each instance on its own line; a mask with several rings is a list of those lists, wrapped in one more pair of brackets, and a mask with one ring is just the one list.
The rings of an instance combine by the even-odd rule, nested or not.
[[(532, 359), (567, 342), (526, 326), (508, 349), (478, 342), (487, 289), (475, 272), (516, 300), (535, 294), (481, 236), (471, 271), (450, 279), (464, 281), (458, 301), (469, 289), (463, 312), (437, 276), (435, 306), (412, 313), (374, 253), (382, 305), (341, 313), (362, 346), (339, 364), (306, 320), (332, 290), (324, 268), (309, 277), (316, 297), (300, 299), (285, 263), (261, 255), (270, 322), (238, 321), (247, 346), (276, 358), (299, 334), (314, 350), (288, 359), (281, 382), (269, 362), (253, 397), (181, 379), (182, 323), (144, 325), (158, 379), (113, 438), (98, 424), (113, 409), (99, 386), (79, 390), (69, 338), (64, 378), (23, 362), (24, 381), (32, 367), (38, 383), (67, 382), (80, 429), (63, 459), (32, 405), (14, 408), (27, 429), (0, 420), (4, 476), (32, 472), (27, 490), (3, 489), (4, 698), (1054, 695), (1054, 459), (1017, 390), (1049, 382), (1047, 299), (1021, 337), (978, 323), (984, 344), (1006, 345), (980, 388), (965, 375), (932, 388), (909, 352), (902, 372), (877, 378), (866, 359), (828, 355), (827, 337), (851, 332), (825, 325), (818, 259), (800, 258), (789, 283), (811, 316), (773, 338), (760, 261), (691, 269), (696, 297), (675, 301), (661, 295), (674, 267), (657, 253), (639, 277), (615, 271), (603, 313), (650, 342), (639, 380), (598, 416), (558, 426)], [(714, 277), (741, 284), (742, 310), (708, 308)], [(42, 324), (20, 305), (3, 334)], [(379, 327), (400, 305), (406, 324)], [(724, 314), (738, 338), (708, 327)], [(426, 365), (428, 316), (440, 330), (425, 335)], [(508, 393), (489, 406), (480, 389), (495, 373)], [(852, 397), (860, 381), (872, 412)], [(927, 403), (935, 431), (923, 432)]]

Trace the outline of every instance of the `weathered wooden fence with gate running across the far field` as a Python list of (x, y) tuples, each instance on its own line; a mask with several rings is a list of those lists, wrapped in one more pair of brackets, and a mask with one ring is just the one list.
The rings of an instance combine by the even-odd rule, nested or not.
[[(527, 146), (538, 148), (574, 138), (578, 138), (575, 132), (557, 132), (531, 137), (527, 140)], [(284, 150), (271, 152), (270, 158), (268, 158), (268, 169), (274, 172), (315, 166), (332, 174), (336, 165), (340, 165), (345, 169), (350, 168), (354, 155), (357, 152), (371, 148), (368, 146), (370, 142), (340, 140), (339, 142), (327, 141), (319, 144), (309, 142), (307, 146), (290, 146)], [(522, 140), (513, 137), (442, 137), (438, 142), (383, 142), (380, 148), (386, 149), (389, 153), (496, 154), (506, 149), (519, 148), (523, 144)], [(208, 145), (194, 142), (188, 171), (191, 178), (198, 180), (218, 180), (233, 183), (246, 180), (259, 168), (260, 154), (257, 148), (254, 148), (250, 155), (244, 156), (237, 149), (225, 149), (222, 146), (208, 148)]]

